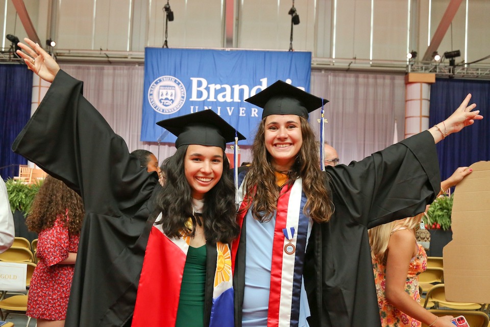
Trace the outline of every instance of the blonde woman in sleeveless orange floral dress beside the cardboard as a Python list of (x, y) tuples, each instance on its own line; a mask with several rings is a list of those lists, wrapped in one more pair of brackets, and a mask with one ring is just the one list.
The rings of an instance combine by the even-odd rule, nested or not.
[[(459, 183), (472, 169), (459, 167), (440, 183), (440, 193)], [(454, 327), (452, 316), (437, 317), (420, 305), (419, 274), (427, 268), (424, 247), (415, 240), (425, 213), (371, 228), (369, 243), (381, 326)]]

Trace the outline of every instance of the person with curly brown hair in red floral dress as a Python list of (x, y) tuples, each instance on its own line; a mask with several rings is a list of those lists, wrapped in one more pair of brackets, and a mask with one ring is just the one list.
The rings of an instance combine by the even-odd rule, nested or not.
[(39, 262), (31, 279), (27, 315), (38, 327), (62, 327), (77, 259), (84, 216), (80, 196), (62, 181), (48, 176), (26, 219), (38, 233)]

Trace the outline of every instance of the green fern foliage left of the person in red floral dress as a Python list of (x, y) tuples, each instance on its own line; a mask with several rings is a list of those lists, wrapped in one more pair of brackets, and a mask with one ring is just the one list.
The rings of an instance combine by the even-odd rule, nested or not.
[(9, 178), (5, 181), (5, 185), (7, 186), (12, 212), (18, 210), (27, 215), (31, 209), (32, 201), (42, 185), (42, 180), (33, 184), (26, 184)]

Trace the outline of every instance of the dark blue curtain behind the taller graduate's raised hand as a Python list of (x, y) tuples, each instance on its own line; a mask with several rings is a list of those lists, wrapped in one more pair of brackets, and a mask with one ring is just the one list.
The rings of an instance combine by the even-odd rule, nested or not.
[(470, 104), (477, 104), (474, 110), (480, 110), (483, 120), (436, 145), (443, 180), (458, 167), (490, 160), (490, 81), (436, 79), (430, 88), (429, 124), (434, 126), (448, 118), (469, 93)]

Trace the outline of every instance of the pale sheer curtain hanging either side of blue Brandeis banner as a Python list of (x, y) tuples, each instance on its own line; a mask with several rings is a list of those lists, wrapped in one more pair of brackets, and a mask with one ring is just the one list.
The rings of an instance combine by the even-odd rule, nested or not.
[[(173, 144), (140, 141), (143, 66), (62, 65), (62, 69), (84, 82), (84, 96), (125, 139), (129, 151), (149, 150), (160, 162), (175, 153)], [(330, 100), (325, 105), (329, 122), (325, 139), (342, 164), (391, 145), (395, 119), (399, 135), (404, 135), (404, 75), (312, 71), (311, 93)], [(319, 118), (320, 110), (310, 114), (315, 131)], [(243, 161), (251, 161), (250, 146), (240, 146)]]

